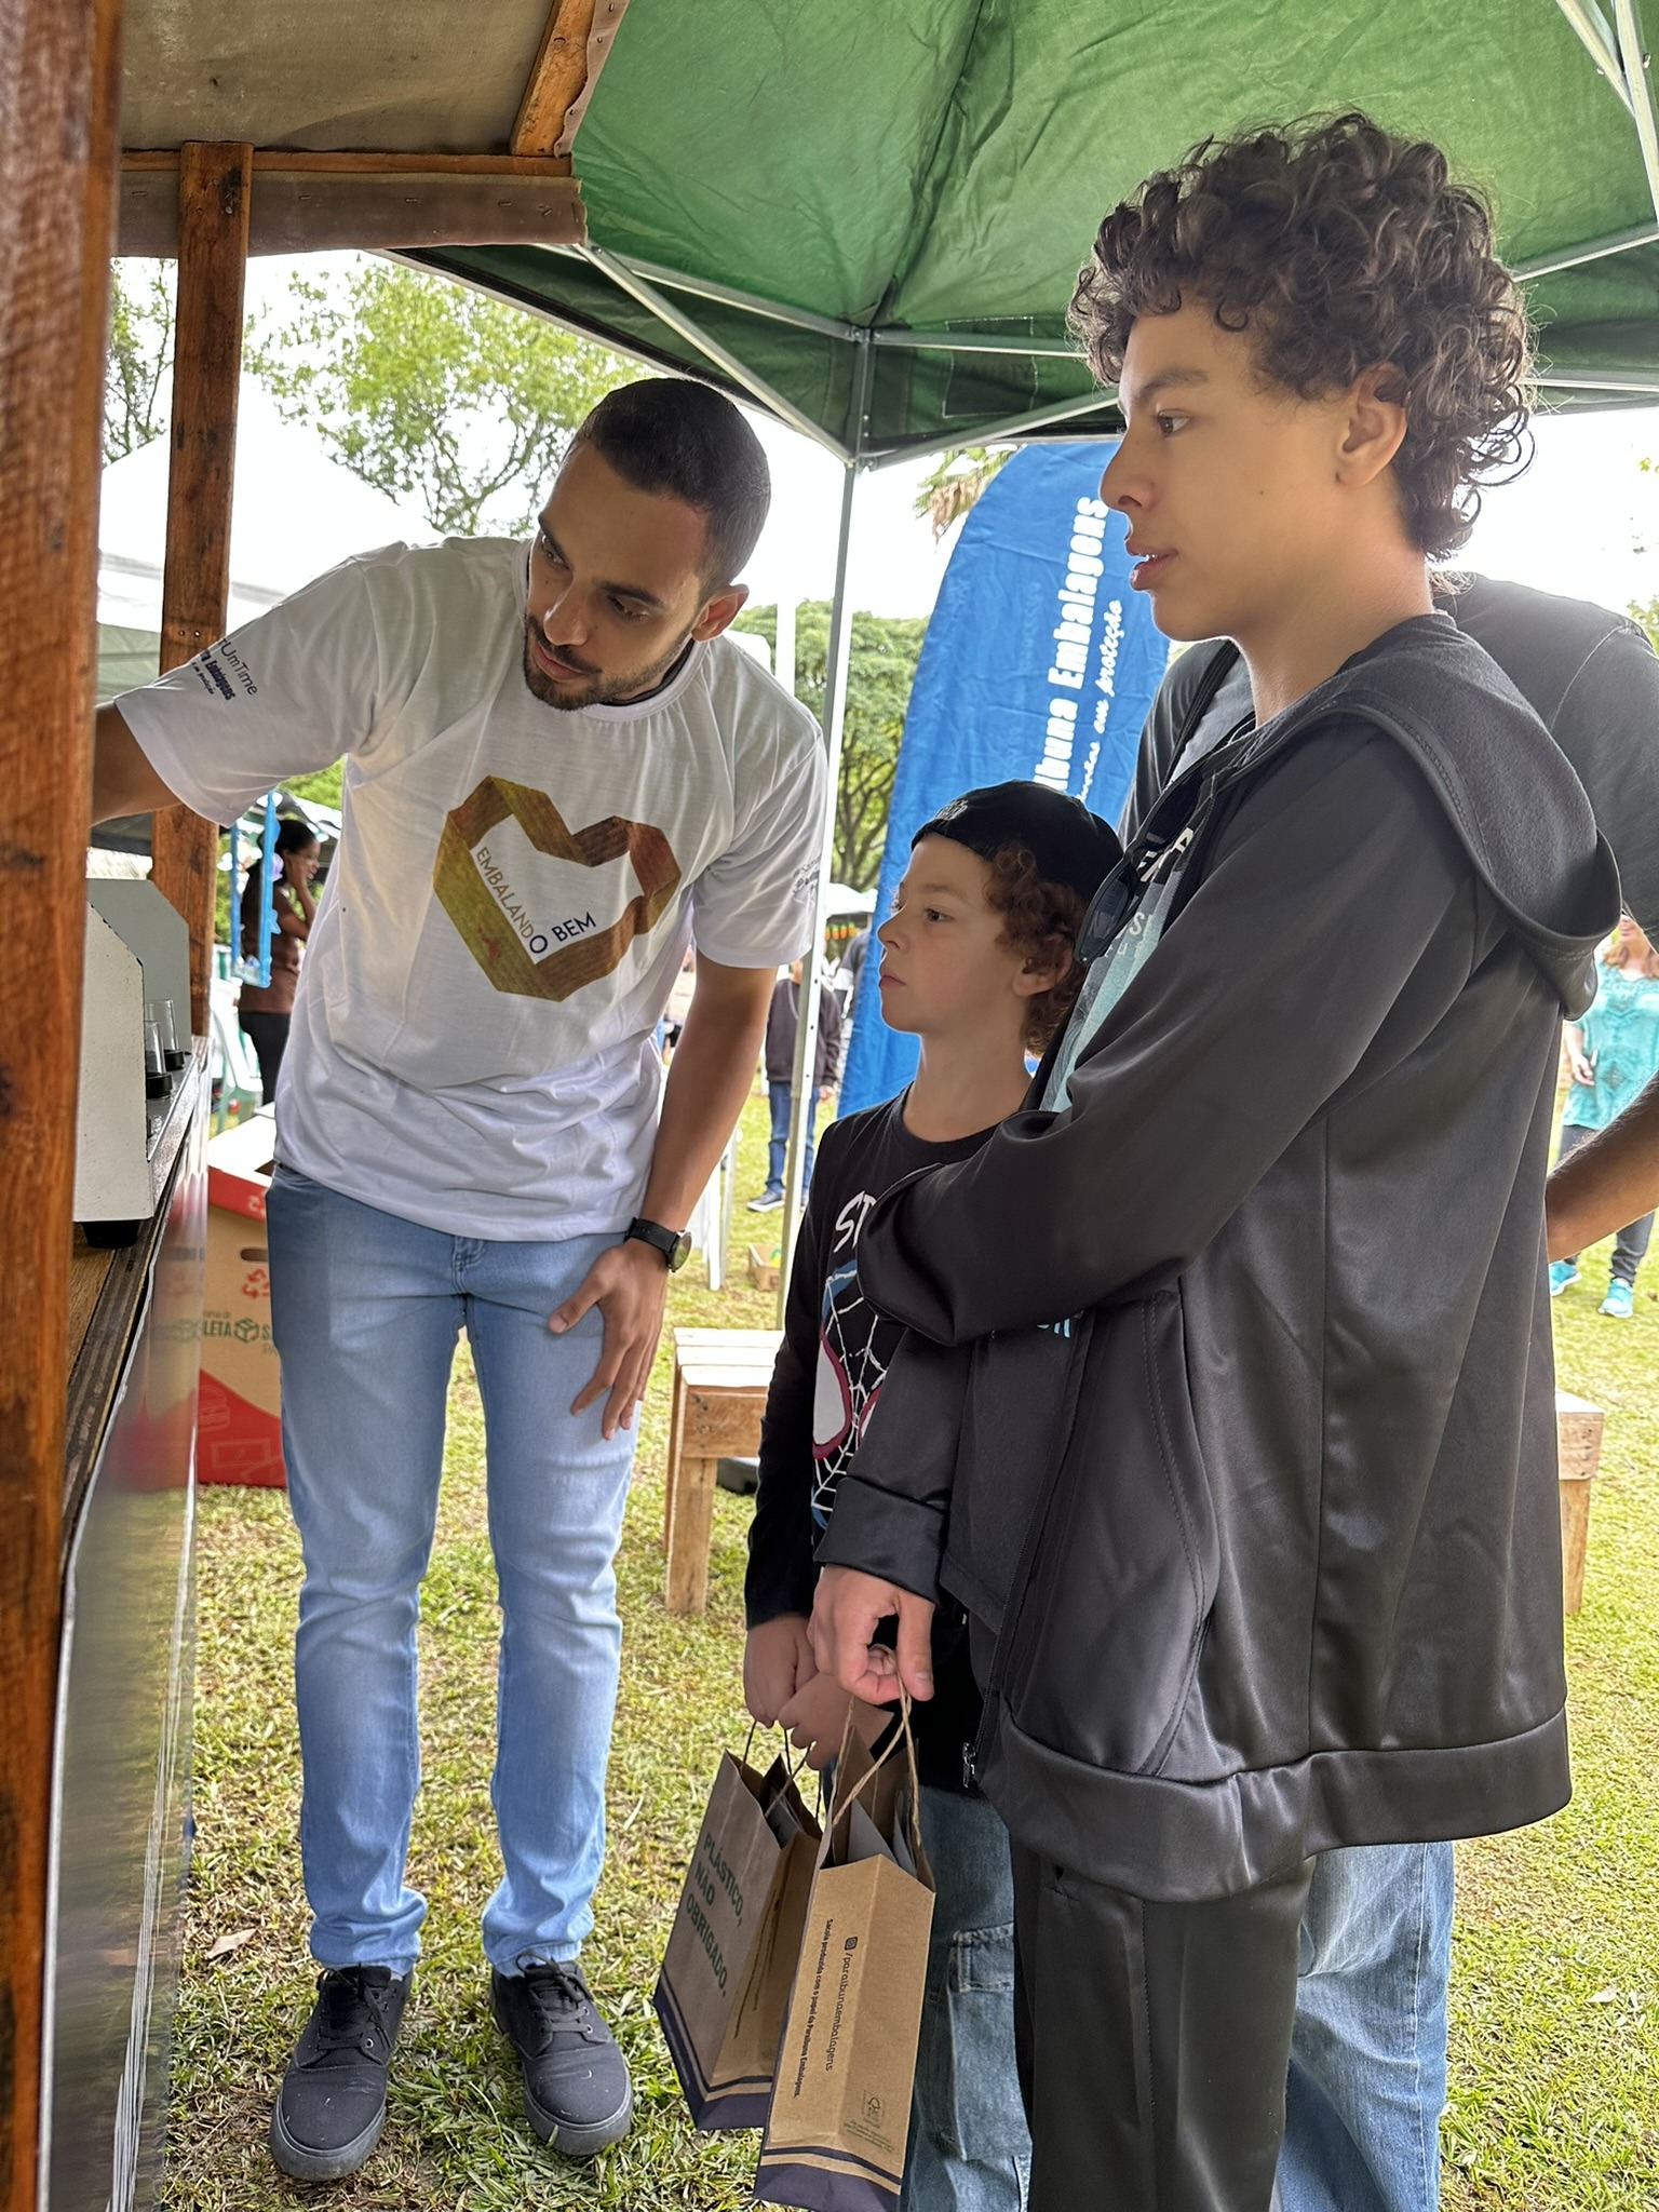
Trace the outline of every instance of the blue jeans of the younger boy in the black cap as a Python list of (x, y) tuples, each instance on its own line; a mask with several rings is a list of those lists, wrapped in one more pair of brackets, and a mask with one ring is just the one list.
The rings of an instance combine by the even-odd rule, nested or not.
[(920, 1812), (938, 1896), (900, 2212), (1022, 2212), (1009, 1832), (984, 1798), (949, 1790), (922, 1787)]

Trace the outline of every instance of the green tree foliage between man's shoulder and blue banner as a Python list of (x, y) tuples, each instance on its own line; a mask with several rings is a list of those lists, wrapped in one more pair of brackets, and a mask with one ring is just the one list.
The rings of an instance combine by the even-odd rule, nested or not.
[[(776, 608), (754, 606), (737, 617), (768, 646), (776, 644)], [(898, 739), (916, 681), (927, 622), (902, 615), (854, 615), (847, 659), (847, 714), (841, 737), (836, 790), (834, 878), (869, 891), (880, 872), (887, 812), (894, 801)], [(794, 692), (823, 721), (823, 677), (830, 657), (830, 602), (807, 599), (794, 617)]]

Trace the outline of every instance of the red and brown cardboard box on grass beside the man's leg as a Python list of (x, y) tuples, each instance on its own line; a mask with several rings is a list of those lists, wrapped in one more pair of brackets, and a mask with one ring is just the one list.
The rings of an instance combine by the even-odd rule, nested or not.
[(270, 1108), (208, 1144), (208, 1279), (201, 1298), (197, 1482), (281, 1489), (281, 1363), (270, 1340)]

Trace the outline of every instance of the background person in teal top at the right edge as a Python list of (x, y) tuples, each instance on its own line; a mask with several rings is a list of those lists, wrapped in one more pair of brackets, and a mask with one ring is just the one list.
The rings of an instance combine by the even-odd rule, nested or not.
[[(1577, 1022), (1562, 1026), (1573, 1088), (1562, 1113), (1559, 1159), (1615, 1121), (1659, 1075), (1659, 951), (1628, 914), (1601, 953), (1601, 989)], [(1613, 1274), (1599, 1312), (1630, 1321), (1637, 1267), (1652, 1237), (1652, 1214), (1628, 1221), (1613, 1245)], [(1551, 1298), (1579, 1279), (1577, 1252), (1551, 1261)]]

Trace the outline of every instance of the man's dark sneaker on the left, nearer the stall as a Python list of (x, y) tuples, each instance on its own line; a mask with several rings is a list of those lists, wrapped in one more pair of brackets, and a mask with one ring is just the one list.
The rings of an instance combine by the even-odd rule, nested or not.
[(288, 2062), (270, 2154), (294, 2181), (354, 2174), (385, 2128), (385, 2077), (409, 2002), (411, 1973), (330, 1966)]

